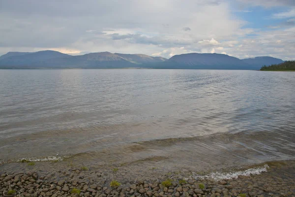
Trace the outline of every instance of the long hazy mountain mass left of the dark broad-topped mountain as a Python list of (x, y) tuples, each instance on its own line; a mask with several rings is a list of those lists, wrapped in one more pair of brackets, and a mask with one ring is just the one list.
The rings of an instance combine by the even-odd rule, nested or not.
[(57, 51), (9, 52), (0, 58), (0, 67), (4, 68), (123, 68), (167, 60), (144, 54), (100, 52), (70, 56)]

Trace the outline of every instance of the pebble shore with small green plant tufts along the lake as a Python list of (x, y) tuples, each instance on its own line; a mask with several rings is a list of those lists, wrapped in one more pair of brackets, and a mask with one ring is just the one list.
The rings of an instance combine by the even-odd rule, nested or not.
[[(156, 174), (124, 179), (115, 168), (68, 167), (44, 171), (0, 171), (2, 197), (295, 197), (295, 161), (267, 163), (267, 172), (236, 179), (214, 180), (191, 173)], [(129, 172), (132, 177), (132, 171)]]

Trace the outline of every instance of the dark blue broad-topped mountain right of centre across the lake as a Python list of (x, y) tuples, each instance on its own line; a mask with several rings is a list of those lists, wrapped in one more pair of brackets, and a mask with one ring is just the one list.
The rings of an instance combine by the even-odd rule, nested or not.
[(175, 55), (164, 62), (162, 68), (183, 69), (253, 69), (242, 60), (216, 53), (188, 53)]

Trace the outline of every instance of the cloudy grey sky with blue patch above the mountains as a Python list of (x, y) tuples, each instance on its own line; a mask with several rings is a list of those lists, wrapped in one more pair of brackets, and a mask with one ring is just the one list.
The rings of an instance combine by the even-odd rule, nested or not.
[(0, 0), (0, 55), (40, 50), (295, 60), (295, 0)]

